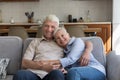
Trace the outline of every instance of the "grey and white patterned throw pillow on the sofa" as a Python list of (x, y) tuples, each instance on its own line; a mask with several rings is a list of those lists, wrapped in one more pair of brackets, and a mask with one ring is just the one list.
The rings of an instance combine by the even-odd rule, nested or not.
[(6, 78), (6, 68), (8, 66), (9, 59), (8, 58), (0, 58), (0, 79)]

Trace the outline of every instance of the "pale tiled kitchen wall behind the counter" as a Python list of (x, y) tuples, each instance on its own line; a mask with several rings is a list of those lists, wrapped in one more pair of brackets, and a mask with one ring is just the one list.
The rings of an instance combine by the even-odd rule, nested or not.
[(16, 22), (26, 22), (26, 11), (34, 11), (34, 19), (43, 19), (48, 14), (56, 14), (61, 21), (68, 21), (72, 14), (74, 18), (85, 17), (90, 10), (92, 21), (111, 21), (111, 1), (73, 1), (73, 0), (40, 0), (39, 2), (0, 2), (3, 22), (9, 22), (13, 17)]

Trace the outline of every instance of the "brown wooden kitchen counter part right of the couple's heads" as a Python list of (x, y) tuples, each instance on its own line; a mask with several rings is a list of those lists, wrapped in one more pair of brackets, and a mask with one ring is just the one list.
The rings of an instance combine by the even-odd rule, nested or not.
[(96, 35), (101, 37), (101, 39), (103, 40), (105, 53), (109, 53), (112, 50), (111, 22), (64, 23), (65, 27), (76, 25), (85, 25), (88, 26), (88, 29), (100, 28), (101, 31), (97, 32)]

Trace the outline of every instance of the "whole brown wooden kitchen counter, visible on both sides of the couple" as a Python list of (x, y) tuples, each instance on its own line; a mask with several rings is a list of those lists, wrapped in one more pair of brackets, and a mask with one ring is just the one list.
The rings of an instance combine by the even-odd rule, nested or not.
[[(0, 34), (1, 36), (8, 33), (9, 27), (22, 26), (26, 29), (30, 29), (31, 26), (40, 26), (38, 23), (0, 23)], [(101, 37), (104, 44), (104, 49), (106, 53), (109, 53), (112, 48), (112, 35), (111, 35), (111, 22), (76, 22), (76, 23), (62, 23), (65, 27), (85, 25), (88, 28), (84, 29), (84, 32), (97, 32), (97, 36)], [(30, 30), (30, 34), (36, 34), (36, 31)]]

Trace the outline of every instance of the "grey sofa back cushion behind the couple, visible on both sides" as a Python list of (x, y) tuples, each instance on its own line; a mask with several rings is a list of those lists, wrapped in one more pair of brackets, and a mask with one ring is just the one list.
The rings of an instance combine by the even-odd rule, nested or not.
[[(106, 66), (106, 58), (105, 58), (105, 53), (104, 53), (104, 47), (103, 47), (103, 42), (100, 37), (81, 37), (84, 41), (89, 40), (93, 43), (93, 55), (95, 58), (104, 66)], [(24, 41), (24, 48), (23, 48), (23, 53), (25, 52), (26, 48), (28, 47), (29, 43), (33, 40), (34, 38), (27, 38)]]

